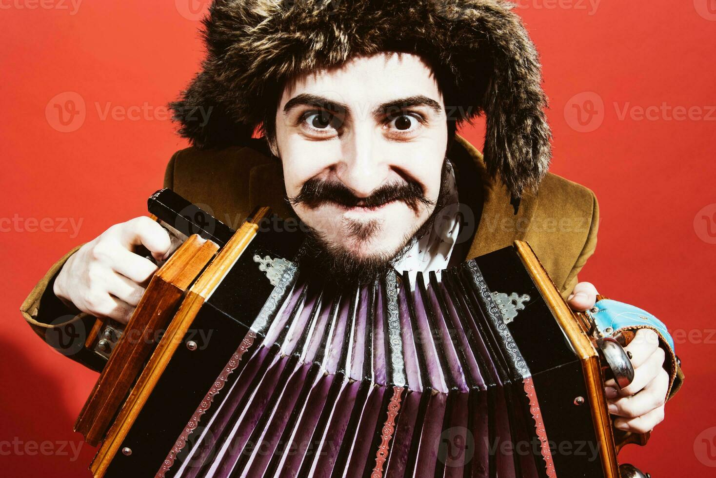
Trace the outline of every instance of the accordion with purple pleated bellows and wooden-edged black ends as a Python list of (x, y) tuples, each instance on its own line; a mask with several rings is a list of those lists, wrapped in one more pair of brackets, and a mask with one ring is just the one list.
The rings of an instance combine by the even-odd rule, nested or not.
[(149, 205), (181, 245), (124, 330), (93, 331), (95, 477), (646, 476), (604, 396), (629, 360), (527, 243), (347, 290), (266, 208), (234, 232), (170, 190)]

